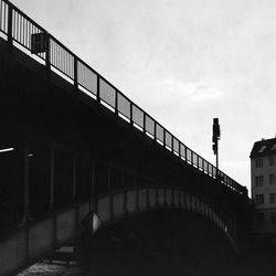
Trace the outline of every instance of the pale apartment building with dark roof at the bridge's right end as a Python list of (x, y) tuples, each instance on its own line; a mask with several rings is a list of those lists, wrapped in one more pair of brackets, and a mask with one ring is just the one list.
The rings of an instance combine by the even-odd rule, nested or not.
[(276, 138), (256, 141), (251, 151), (253, 231), (276, 233)]

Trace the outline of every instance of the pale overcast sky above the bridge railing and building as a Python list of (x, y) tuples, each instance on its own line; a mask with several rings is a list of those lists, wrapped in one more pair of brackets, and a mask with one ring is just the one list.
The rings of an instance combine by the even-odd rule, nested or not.
[(275, 0), (11, 0), (63, 44), (250, 188), (254, 141), (276, 134)]

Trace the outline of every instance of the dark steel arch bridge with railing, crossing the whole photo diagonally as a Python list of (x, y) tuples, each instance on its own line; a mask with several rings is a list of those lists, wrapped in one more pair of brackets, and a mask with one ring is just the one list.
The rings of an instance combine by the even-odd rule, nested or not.
[(233, 248), (247, 190), (0, 0), (0, 275), (120, 220), (187, 210)]

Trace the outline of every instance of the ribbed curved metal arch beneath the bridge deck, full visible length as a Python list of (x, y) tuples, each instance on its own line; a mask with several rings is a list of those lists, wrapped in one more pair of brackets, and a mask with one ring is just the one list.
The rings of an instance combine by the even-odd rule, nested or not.
[(0, 241), (0, 275), (14, 275), (73, 242), (82, 234), (82, 224), (95, 232), (119, 220), (158, 209), (184, 209), (208, 217), (236, 250), (229, 225), (202, 200), (178, 189), (144, 187), (103, 194), (18, 229)]

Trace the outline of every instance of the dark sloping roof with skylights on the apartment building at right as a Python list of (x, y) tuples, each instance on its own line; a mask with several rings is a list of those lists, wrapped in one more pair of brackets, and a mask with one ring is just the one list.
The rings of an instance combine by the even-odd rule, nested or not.
[(256, 141), (251, 151), (251, 158), (276, 155), (276, 138)]

